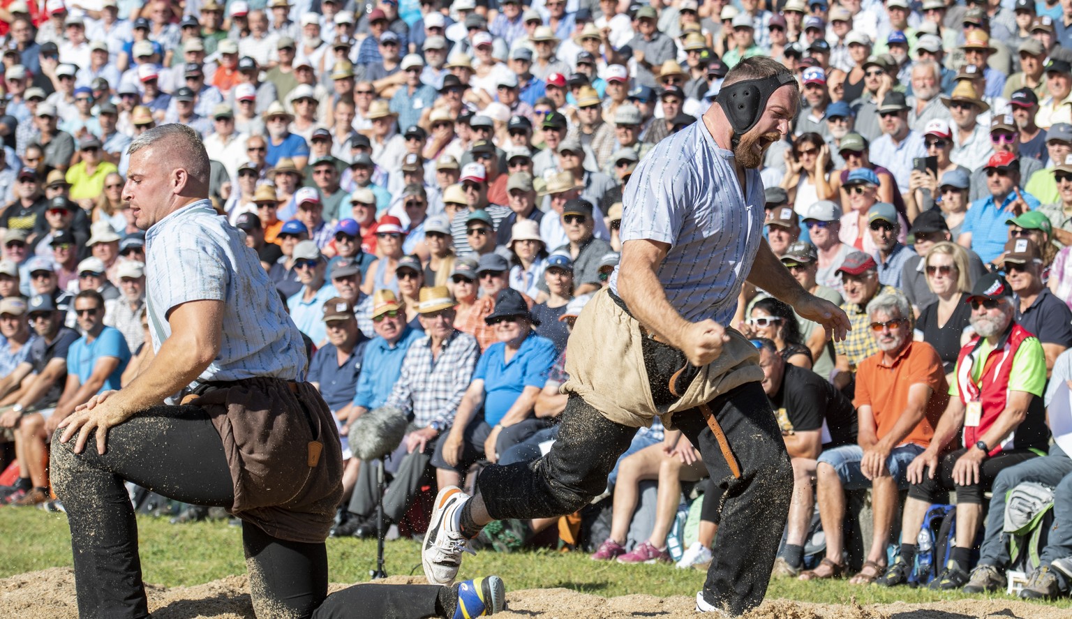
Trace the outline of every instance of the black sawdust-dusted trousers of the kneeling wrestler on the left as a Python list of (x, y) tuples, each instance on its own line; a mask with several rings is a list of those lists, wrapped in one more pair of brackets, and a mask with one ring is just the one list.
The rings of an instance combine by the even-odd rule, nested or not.
[[(107, 452), (93, 438), (81, 454), (74, 440), (51, 449), (53, 484), (71, 527), (78, 615), (148, 617), (137, 522), (123, 486), (130, 481), (170, 499), (229, 507), (234, 485), (223, 443), (197, 407), (153, 407), (108, 431)], [(328, 561), (323, 543), (301, 544), (242, 527), (253, 607), (258, 617), (440, 616), (442, 587), (351, 587), (327, 595)]]

